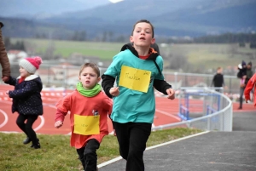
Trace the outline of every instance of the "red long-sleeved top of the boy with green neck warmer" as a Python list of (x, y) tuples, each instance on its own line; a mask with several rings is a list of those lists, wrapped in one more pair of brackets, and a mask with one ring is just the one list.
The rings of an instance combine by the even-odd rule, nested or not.
[[(113, 100), (109, 99), (106, 94), (100, 92), (93, 97), (85, 97), (79, 94), (77, 90), (68, 94), (61, 99), (57, 104), (57, 112), (55, 115), (55, 122), (64, 121), (64, 117), (67, 112), (70, 111), (70, 127), (71, 127), (71, 139), (70, 145), (76, 149), (83, 147), (90, 139), (96, 139), (99, 143), (105, 135), (108, 134), (108, 115), (112, 113)], [(62, 111), (62, 112), (60, 112)], [(74, 115), (80, 116), (93, 116), (94, 111), (97, 111), (100, 117), (100, 134), (75, 134), (74, 133)]]

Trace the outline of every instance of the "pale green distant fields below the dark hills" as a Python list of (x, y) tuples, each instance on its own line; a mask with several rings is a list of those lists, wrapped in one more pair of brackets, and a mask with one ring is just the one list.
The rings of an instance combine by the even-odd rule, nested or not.
[[(12, 39), (15, 42), (20, 39)], [(119, 53), (124, 43), (96, 43), (73, 41), (50, 41), (46, 39), (22, 39), (33, 51), (44, 53), (49, 46), (54, 47), (54, 54), (68, 58), (73, 53), (96, 56), (102, 60), (112, 60)], [(241, 60), (255, 61), (256, 49), (240, 48), (238, 44), (169, 44), (160, 47), (161, 54), (183, 55), (190, 65), (204, 68), (237, 66)], [(253, 59), (254, 58), (254, 59)]]

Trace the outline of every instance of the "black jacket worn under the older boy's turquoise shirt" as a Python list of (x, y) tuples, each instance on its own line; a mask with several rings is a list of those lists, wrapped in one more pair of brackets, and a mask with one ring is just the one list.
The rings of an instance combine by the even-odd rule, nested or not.
[[(125, 44), (121, 48), (121, 51), (124, 51), (127, 48), (131, 50), (132, 54), (134, 54), (134, 55), (136, 55), (138, 57), (137, 50), (135, 48), (133, 48), (131, 43)], [(152, 54), (150, 54), (148, 56), (147, 60), (153, 60), (155, 67), (157, 67), (158, 71), (160, 71), (159, 66), (157, 66), (157, 64), (155, 62), (157, 56), (159, 56), (159, 54), (154, 52), (154, 53), (152, 53)], [(162, 74), (162, 73), (160, 72), (160, 74)], [(113, 88), (114, 81), (115, 81), (114, 77), (111, 77), (111, 76), (108, 76), (108, 75), (104, 75), (104, 74), (102, 75), (102, 88), (105, 91), (105, 93), (108, 95), (109, 98), (112, 98), (112, 95), (109, 94), (109, 89)], [(163, 94), (166, 94), (166, 89), (172, 88), (172, 85), (170, 85), (169, 83), (166, 83), (165, 80), (154, 79), (154, 84), (153, 85), (154, 85), (155, 89), (157, 89), (158, 91), (160, 91)]]

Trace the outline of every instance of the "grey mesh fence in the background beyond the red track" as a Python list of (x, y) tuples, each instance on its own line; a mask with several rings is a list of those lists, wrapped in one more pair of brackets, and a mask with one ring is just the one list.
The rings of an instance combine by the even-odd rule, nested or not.
[[(18, 64), (12, 64), (12, 76), (19, 76)], [(63, 87), (73, 88), (79, 79), (80, 66), (60, 66), (56, 64), (43, 63), (36, 74), (40, 75), (44, 87)], [(106, 71), (106, 68), (100, 68), (101, 74)], [(168, 72), (164, 71), (166, 82), (170, 83), (173, 88), (178, 89), (181, 87), (210, 87), (212, 84), (212, 74), (195, 74), (195, 73), (182, 73), (182, 72)], [(3, 82), (2, 82), (3, 83)], [(226, 94), (239, 94), (239, 79), (236, 76), (224, 75), (224, 93)]]

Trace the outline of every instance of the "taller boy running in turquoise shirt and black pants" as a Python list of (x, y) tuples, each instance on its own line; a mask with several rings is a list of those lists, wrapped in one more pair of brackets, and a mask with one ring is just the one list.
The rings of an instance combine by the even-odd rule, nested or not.
[[(113, 128), (119, 153), (126, 160), (126, 171), (144, 171), (143, 152), (154, 121), (154, 88), (175, 98), (172, 86), (162, 74), (163, 59), (150, 48), (154, 27), (148, 20), (133, 26), (130, 42), (113, 57), (102, 75), (102, 88), (113, 98)], [(116, 81), (117, 87), (113, 87)]]

